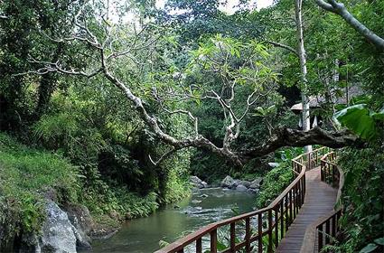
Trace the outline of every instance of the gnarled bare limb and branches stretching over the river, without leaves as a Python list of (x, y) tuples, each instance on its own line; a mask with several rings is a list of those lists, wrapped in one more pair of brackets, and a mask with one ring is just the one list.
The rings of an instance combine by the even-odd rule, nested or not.
[[(137, 51), (136, 38), (134, 40), (134, 43), (132, 43), (130, 47), (127, 46), (124, 49), (120, 49), (120, 51), (116, 51), (111, 45), (111, 41), (113, 41), (113, 38), (111, 38), (112, 34), (110, 33), (110, 31), (108, 31), (110, 27), (106, 28), (107, 37), (103, 39), (104, 41), (98, 42), (98, 37), (89, 30), (85, 23), (78, 23), (77, 18), (75, 19), (75, 22), (77, 28), (82, 30), (83, 33), (75, 34), (74, 36), (68, 37), (66, 39), (53, 39), (50, 36), (47, 37), (49, 37), (53, 42), (78, 41), (88, 44), (90, 48), (93, 48), (95, 55), (98, 56), (99, 67), (96, 70), (87, 72), (85, 70), (76, 70), (70, 67), (63, 67), (61, 66), (61, 63), (59, 61), (49, 62), (38, 61), (33, 59), (33, 63), (36, 63), (38, 66), (44, 67), (39, 70), (29, 71), (28, 73), (43, 75), (49, 72), (58, 72), (65, 75), (75, 75), (87, 79), (94, 78), (98, 75), (104, 76), (107, 80), (109, 80), (111, 84), (115, 85), (117, 89), (120, 89), (125, 95), (126, 99), (129, 100), (135, 106), (139, 117), (145, 122), (145, 125), (155, 134), (155, 136), (161, 141), (163, 141), (164, 144), (171, 146), (170, 150), (165, 152), (164, 155), (161, 155), (157, 161), (154, 161), (152, 157), (149, 157), (150, 161), (152, 161), (152, 163), (155, 165), (160, 164), (162, 161), (164, 161), (167, 156), (172, 155), (177, 150), (181, 150), (187, 147), (196, 147), (210, 151), (216, 155), (219, 155), (229, 160), (232, 164), (241, 166), (242, 164), (246, 163), (249, 159), (262, 155), (267, 155), (283, 146), (303, 146), (318, 144), (327, 145), (331, 147), (340, 147), (343, 145), (351, 145), (356, 140), (356, 136), (351, 136), (351, 134), (349, 133), (330, 133), (320, 128), (314, 128), (306, 132), (285, 128), (276, 131), (276, 134), (271, 139), (269, 139), (264, 145), (260, 145), (248, 151), (233, 152), (229, 149), (229, 142), (239, 136), (239, 122), (244, 118), (243, 116), (239, 118), (236, 117), (235, 113), (233, 112), (230, 106), (230, 102), (234, 96), (234, 89), (232, 89), (231, 85), (234, 84), (227, 85), (227, 87), (230, 88), (229, 91), (231, 92), (229, 98), (225, 98), (223, 97), (223, 94), (219, 95), (215, 92), (211, 92), (211, 94), (214, 94), (214, 96), (206, 95), (204, 97), (217, 99), (220, 102), (220, 105), (222, 106), (224, 111), (229, 113), (231, 123), (229, 124), (229, 126), (227, 126), (227, 142), (224, 143), (223, 147), (214, 145), (209, 139), (199, 135), (197, 129), (197, 117), (194, 117), (188, 111), (181, 109), (169, 112), (171, 114), (181, 113), (191, 117), (192, 120), (194, 120), (195, 122), (195, 135), (178, 139), (174, 136), (165, 133), (164, 129), (162, 129), (162, 127), (158, 124), (157, 118), (148, 113), (142, 98), (137, 96), (135, 92), (130, 89), (130, 87), (134, 87), (135, 84), (127, 83), (126, 81), (119, 79), (117, 77), (118, 75), (115, 74), (114, 70), (112, 70), (109, 61), (114, 61), (118, 56), (128, 56), (129, 52)], [(150, 41), (150, 43), (152, 43), (152, 41)], [(228, 55), (226, 58), (228, 58)], [(223, 76), (223, 78), (225, 79), (225, 82), (227, 84), (230, 83), (229, 80), (227, 80), (227, 76)], [(259, 96), (267, 96), (267, 94), (268, 92), (259, 93), (257, 94), (256, 98), (253, 98), (256, 94), (255, 92), (252, 93), (251, 96), (248, 97), (248, 107), (246, 111), (248, 111), (250, 105), (253, 105), (256, 102)], [(194, 96), (190, 95), (190, 97)], [(232, 132), (232, 128), (234, 127), (236, 127), (235, 134), (233, 134)]]

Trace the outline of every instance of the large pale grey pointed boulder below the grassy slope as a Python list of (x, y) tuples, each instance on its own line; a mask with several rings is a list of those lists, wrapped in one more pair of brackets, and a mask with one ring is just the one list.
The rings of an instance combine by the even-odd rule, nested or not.
[(45, 210), (47, 217), (42, 225), (42, 235), (39, 239), (40, 251), (76, 253), (76, 229), (70, 223), (67, 213), (53, 201), (47, 201)]

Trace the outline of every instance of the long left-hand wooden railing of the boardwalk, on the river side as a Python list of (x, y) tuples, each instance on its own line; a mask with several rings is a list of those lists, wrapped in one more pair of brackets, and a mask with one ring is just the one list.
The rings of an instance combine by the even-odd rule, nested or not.
[[(321, 157), (328, 151), (328, 148), (322, 147), (295, 157), (292, 160), (295, 180), (266, 208), (211, 223), (155, 253), (182, 253), (188, 246), (197, 253), (207, 249), (217, 253), (219, 230), (229, 234), (229, 245), (220, 252), (237, 252), (239, 249), (245, 249), (246, 252), (273, 252), (304, 203), (305, 171), (318, 166)], [(207, 237), (210, 240), (209, 247), (203, 248), (202, 239)]]

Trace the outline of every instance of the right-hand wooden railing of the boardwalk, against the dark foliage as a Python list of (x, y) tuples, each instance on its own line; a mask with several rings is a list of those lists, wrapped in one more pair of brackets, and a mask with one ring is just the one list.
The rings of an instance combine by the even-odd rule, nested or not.
[(336, 158), (334, 152), (323, 155), (321, 158), (321, 180), (334, 188), (338, 188), (336, 203), (339, 203), (340, 206), (335, 208), (335, 211), (332, 211), (330, 215), (316, 222), (317, 247), (314, 247), (314, 252), (320, 252), (325, 245), (332, 243), (332, 239), (336, 237), (340, 229), (339, 220), (342, 217), (340, 198), (344, 175), (341, 168), (336, 164)]

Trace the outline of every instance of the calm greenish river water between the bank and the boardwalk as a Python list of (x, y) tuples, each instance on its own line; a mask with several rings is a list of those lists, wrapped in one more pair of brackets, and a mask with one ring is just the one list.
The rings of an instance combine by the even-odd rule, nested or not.
[[(202, 196), (203, 194), (207, 197)], [(95, 240), (91, 252), (150, 253), (159, 241), (173, 242), (211, 222), (253, 210), (256, 195), (221, 188), (193, 192), (183, 201), (165, 206), (152, 215), (127, 222), (113, 237)]]

